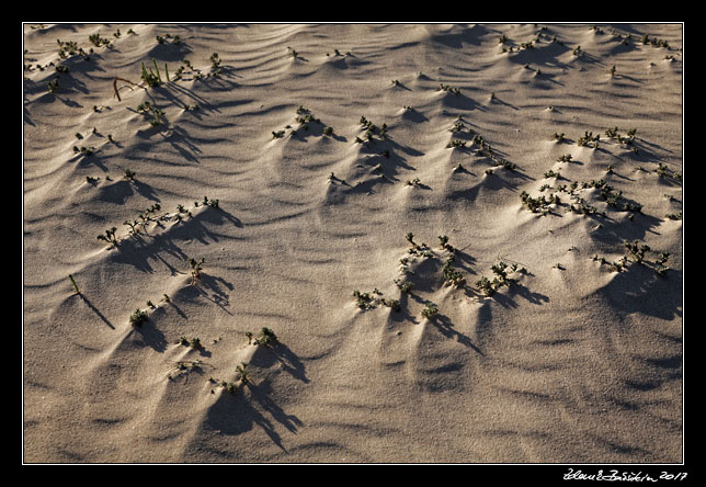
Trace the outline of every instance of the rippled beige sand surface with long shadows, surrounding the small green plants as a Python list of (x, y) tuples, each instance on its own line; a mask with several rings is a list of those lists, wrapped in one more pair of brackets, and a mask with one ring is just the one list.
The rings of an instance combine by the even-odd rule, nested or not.
[(24, 25), (24, 461), (681, 462), (682, 39)]

